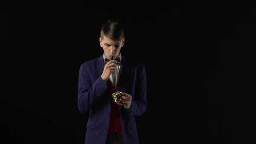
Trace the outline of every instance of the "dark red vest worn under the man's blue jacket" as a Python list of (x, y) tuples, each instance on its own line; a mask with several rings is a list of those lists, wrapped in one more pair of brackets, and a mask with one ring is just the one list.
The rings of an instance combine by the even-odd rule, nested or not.
[(119, 87), (120, 79), (119, 79), (118, 84), (117, 84), (115, 89), (112, 85), (112, 82), (109, 79), (108, 79), (108, 82), (109, 82), (109, 88), (110, 88), (110, 93), (111, 93), (110, 94), (111, 113), (110, 113), (110, 121), (109, 121), (108, 135), (107, 136), (110, 136), (110, 135), (114, 134), (115, 132), (122, 135), (121, 118), (120, 118), (120, 106), (117, 103), (115, 103), (113, 101), (113, 98), (112, 98), (112, 93), (120, 90), (120, 87)]

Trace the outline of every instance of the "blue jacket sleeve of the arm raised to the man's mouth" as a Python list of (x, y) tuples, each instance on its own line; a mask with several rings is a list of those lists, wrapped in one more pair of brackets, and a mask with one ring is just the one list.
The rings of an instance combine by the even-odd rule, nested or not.
[(107, 89), (103, 79), (98, 76), (95, 82), (91, 78), (98, 76), (98, 72), (89, 73), (83, 65), (79, 69), (78, 101), (77, 106), (82, 114), (90, 111), (95, 101), (100, 98)]

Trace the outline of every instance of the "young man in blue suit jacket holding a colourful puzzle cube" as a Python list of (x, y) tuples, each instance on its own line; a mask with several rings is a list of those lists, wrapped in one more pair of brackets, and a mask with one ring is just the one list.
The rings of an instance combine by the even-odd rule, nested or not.
[[(78, 109), (89, 113), (85, 144), (138, 144), (135, 117), (147, 110), (145, 67), (121, 55), (125, 36), (118, 21), (102, 25), (99, 43), (102, 56), (79, 69)], [(118, 91), (116, 102), (112, 94)]]

